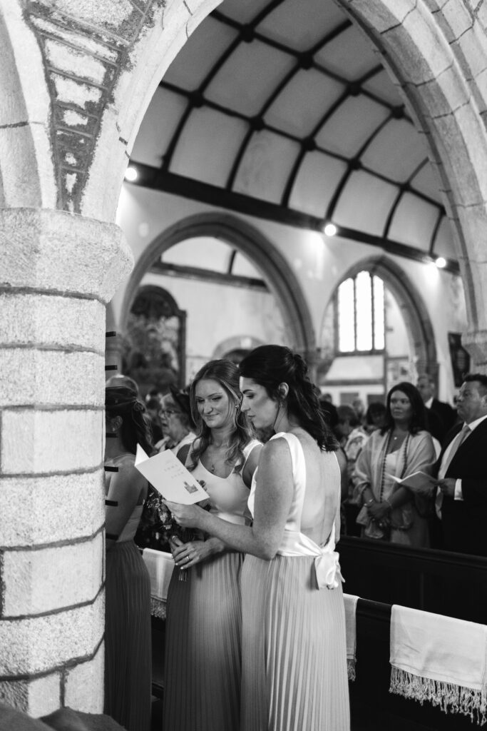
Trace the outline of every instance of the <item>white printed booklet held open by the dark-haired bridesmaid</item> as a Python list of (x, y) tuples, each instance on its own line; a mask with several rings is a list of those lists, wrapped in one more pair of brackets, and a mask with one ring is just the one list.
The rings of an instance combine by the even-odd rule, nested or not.
[(135, 466), (166, 500), (192, 505), (208, 499), (208, 493), (171, 450), (148, 457), (137, 444)]

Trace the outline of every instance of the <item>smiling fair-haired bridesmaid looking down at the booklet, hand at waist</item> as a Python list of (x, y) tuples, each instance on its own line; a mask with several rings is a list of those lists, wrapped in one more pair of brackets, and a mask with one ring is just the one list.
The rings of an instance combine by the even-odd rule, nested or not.
[[(249, 522), (247, 501), (261, 450), (240, 414), (237, 366), (207, 363), (190, 398), (198, 437), (186, 466), (204, 484), (210, 513), (237, 529)], [(243, 553), (208, 532), (170, 545), (180, 570), (173, 572), (167, 597), (164, 729), (238, 730)]]

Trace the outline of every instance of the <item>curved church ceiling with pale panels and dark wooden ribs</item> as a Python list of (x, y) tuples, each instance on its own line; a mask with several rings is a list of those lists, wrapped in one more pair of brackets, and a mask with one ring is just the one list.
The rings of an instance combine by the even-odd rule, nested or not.
[(138, 182), (456, 268), (427, 151), (333, 0), (225, 0), (153, 97)]

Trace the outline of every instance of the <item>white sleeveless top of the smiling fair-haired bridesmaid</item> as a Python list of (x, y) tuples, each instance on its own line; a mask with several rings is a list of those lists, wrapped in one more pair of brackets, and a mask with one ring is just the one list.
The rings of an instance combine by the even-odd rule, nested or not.
[[(258, 444), (261, 444), (261, 442), (258, 442), (258, 439), (252, 439), (251, 442), (245, 445), (243, 449), (245, 461), (242, 469), (239, 469), (238, 472), (232, 469), (228, 477), (218, 477), (218, 474), (213, 474), (207, 470), (202, 464), (202, 461), (198, 460), (191, 474), (196, 480), (204, 481), (204, 489), (210, 498), (210, 512), (212, 515), (227, 520), (229, 523), (234, 523), (234, 525), (250, 523), (250, 513), (247, 510), (249, 491), (243, 481), (242, 473), (250, 452)], [(193, 447), (191, 446), (188, 457), (186, 458), (186, 467), (192, 466), (193, 464), (193, 459), (191, 458), (192, 451)]]

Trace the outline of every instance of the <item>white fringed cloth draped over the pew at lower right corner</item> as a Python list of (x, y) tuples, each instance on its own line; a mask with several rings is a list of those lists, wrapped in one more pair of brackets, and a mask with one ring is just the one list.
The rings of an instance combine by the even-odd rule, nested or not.
[(428, 700), (483, 726), (487, 713), (487, 626), (392, 607), (389, 692)]

